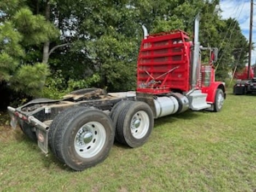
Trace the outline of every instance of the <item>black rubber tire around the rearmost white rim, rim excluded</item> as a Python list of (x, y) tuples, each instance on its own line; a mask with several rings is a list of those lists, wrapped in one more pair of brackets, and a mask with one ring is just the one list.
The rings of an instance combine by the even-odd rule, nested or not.
[[(53, 148), (57, 158), (73, 170), (83, 171), (85, 168), (95, 166), (107, 158), (114, 143), (114, 127), (109, 116), (98, 109), (72, 108), (56, 126)], [(83, 158), (75, 151), (75, 136), (78, 130), (89, 122), (100, 123), (106, 131), (106, 141), (100, 152), (91, 158)]]

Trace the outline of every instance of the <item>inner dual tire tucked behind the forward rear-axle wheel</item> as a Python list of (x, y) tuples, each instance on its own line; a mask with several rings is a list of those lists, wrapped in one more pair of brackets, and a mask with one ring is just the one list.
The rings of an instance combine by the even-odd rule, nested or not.
[(124, 143), (125, 141), (123, 141), (123, 139), (124, 139), (123, 137), (120, 137), (120, 138), (118, 137), (117, 121), (118, 121), (121, 111), (124, 110), (124, 108), (131, 103), (132, 103), (132, 101), (127, 101), (127, 100), (120, 101), (115, 104), (115, 106), (111, 109), (111, 111), (109, 113), (109, 117), (112, 119), (113, 126), (115, 128), (115, 141), (118, 141), (119, 143)]

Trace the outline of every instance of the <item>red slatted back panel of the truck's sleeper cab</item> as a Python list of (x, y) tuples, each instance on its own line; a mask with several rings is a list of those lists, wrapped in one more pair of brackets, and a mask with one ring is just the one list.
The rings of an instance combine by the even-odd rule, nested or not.
[(152, 94), (189, 90), (190, 42), (183, 31), (149, 35), (137, 61), (137, 91)]

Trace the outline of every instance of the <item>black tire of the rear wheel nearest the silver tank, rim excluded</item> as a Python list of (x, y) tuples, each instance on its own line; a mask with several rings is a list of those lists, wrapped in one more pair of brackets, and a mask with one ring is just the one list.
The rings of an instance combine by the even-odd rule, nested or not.
[[(136, 113), (139, 114), (140, 111), (146, 112), (148, 116), (148, 127), (147, 132), (145, 133), (145, 135), (143, 135), (143, 137), (136, 138), (132, 135), (131, 124), (134, 115)], [(117, 122), (117, 137), (122, 143), (126, 144), (131, 148), (139, 147), (147, 142), (150, 133), (153, 130), (153, 126), (154, 115), (148, 104), (141, 101), (133, 101), (129, 105), (127, 105), (119, 115)]]

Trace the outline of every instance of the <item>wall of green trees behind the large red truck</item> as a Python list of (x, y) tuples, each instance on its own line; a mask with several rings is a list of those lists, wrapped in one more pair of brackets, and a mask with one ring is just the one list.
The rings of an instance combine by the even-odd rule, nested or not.
[[(47, 96), (90, 86), (134, 90), (141, 25), (150, 33), (181, 29), (193, 38), (197, 13), (200, 42), (219, 48), (217, 78), (224, 80), (245, 66), (248, 42), (238, 22), (220, 11), (219, 0), (2, 0), (0, 81), (34, 95), (49, 69)], [(49, 67), (40, 64), (45, 54)]]

